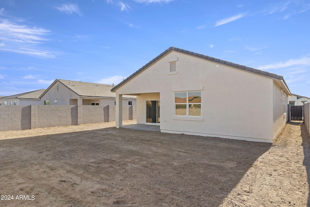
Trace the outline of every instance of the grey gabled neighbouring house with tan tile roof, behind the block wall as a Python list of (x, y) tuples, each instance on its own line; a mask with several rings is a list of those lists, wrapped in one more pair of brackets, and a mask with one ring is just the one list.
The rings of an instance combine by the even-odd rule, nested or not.
[[(112, 85), (56, 79), (40, 96), (41, 105), (114, 105)], [(136, 96), (124, 96), (124, 105), (136, 105)]]

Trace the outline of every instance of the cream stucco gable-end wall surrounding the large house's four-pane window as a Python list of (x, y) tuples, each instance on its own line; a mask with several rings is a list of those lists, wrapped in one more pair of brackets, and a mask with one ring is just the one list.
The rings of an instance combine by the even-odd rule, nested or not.
[[(177, 74), (172, 74), (169, 62), (175, 60)], [(174, 92), (196, 90), (202, 92), (202, 116), (175, 116)], [(273, 140), (273, 80), (264, 76), (173, 51), (116, 93), (141, 94), (137, 96), (138, 120), (143, 118), (140, 117), (142, 94), (159, 93), (162, 132)]]

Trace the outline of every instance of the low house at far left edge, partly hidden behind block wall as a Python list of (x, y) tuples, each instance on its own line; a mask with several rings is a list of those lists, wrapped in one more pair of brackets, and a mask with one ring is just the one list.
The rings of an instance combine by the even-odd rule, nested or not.
[(31, 91), (23, 94), (16, 94), (13, 96), (4, 96), (0, 98), (0, 102), (5, 106), (28, 106), (40, 105), (40, 96), (45, 92), (45, 89)]

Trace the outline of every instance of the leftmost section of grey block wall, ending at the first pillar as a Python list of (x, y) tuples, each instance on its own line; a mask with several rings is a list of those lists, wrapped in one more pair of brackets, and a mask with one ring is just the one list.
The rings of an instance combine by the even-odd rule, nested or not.
[(0, 106), (0, 131), (31, 128), (31, 106)]

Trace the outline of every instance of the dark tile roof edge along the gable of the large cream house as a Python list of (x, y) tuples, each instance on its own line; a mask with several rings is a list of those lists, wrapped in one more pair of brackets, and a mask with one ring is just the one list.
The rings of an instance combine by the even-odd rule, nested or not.
[(256, 74), (259, 74), (259, 75), (262, 75), (262, 76), (265, 76), (265, 77), (268, 77), (268, 78), (272, 78), (272, 79), (275, 79), (275, 80), (279, 80), (282, 82), (283, 86), (286, 88), (286, 90), (290, 93), (291, 95), (291, 92), (289, 90), (289, 87), (286, 85), (284, 79), (283, 79), (283, 76), (279, 76), (277, 74), (273, 74), (273, 73), (269, 73), (269, 72), (266, 72), (266, 71), (262, 71), (262, 70), (258, 70), (258, 69), (254, 69), (254, 68), (251, 68), (251, 67), (247, 67), (247, 66), (244, 66), (244, 65), (240, 65), (240, 64), (234, 64), (234, 63), (231, 63), (231, 62), (227, 62), (227, 61), (223, 61), (223, 60), (220, 60), (220, 59), (217, 59), (217, 58), (213, 58), (213, 57), (209, 57), (209, 56), (206, 56), (206, 55), (202, 55), (202, 54), (198, 54), (198, 53), (195, 53), (195, 52), (191, 52), (191, 51), (187, 51), (187, 50), (184, 50), (184, 49), (180, 49), (180, 48), (174, 48), (174, 47), (170, 47), (168, 49), (166, 49), (164, 52), (162, 52), (161, 54), (159, 54), (157, 57), (155, 57), (153, 60), (151, 60), (149, 63), (145, 64), (143, 67), (141, 67), (139, 70), (137, 70), (136, 72), (134, 72), (132, 75), (130, 75), (128, 78), (126, 78), (125, 80), (123, 80), (122, 82), (120, 82), (118, 85), (116, 85), (114, 88), (112, 88), (112, 92), (115, 92), (115, 90), (117, 88), (119, 88), (120, 86), (122, 86), (125, 82), (127, 82), (128, 80), (132, 79), (133, 77), (135, 77), (136, 75), (138, 75), (141, 71), (143, 71), (144, 69), (146, 69), (148, 66), (150, 66), (151, 64), (155, 63), (156, 61), (158, 61), (158, 59), (162, 58), (164, 55), (166, 55), (167, 53), (169, 53), (170, 51), (177, 51), (177, 52), (181, 52), (181, 53), (184, 53), (184, 54), (187, 54), (187, 55), (191, 55), (191, 56), (195, 56), (195, 57), (198, 57), (198, 58), (202, 58), (202, 59), (205, 59), (205, 60), (209, 60), (209, 61), (213, 61), (213, 62), (216, 62), (216, 63), (219, 63), (219, 64), (225, 64), (225, 65), (228, 65), (228, 66), (231, 66), (231, 67), (235, 67), (237, 69), (240, 69), (240, 70), (244, 70), (244, 71), (247, 71), (247, 72), (251, 72), (251, 73), (256, 73)]

